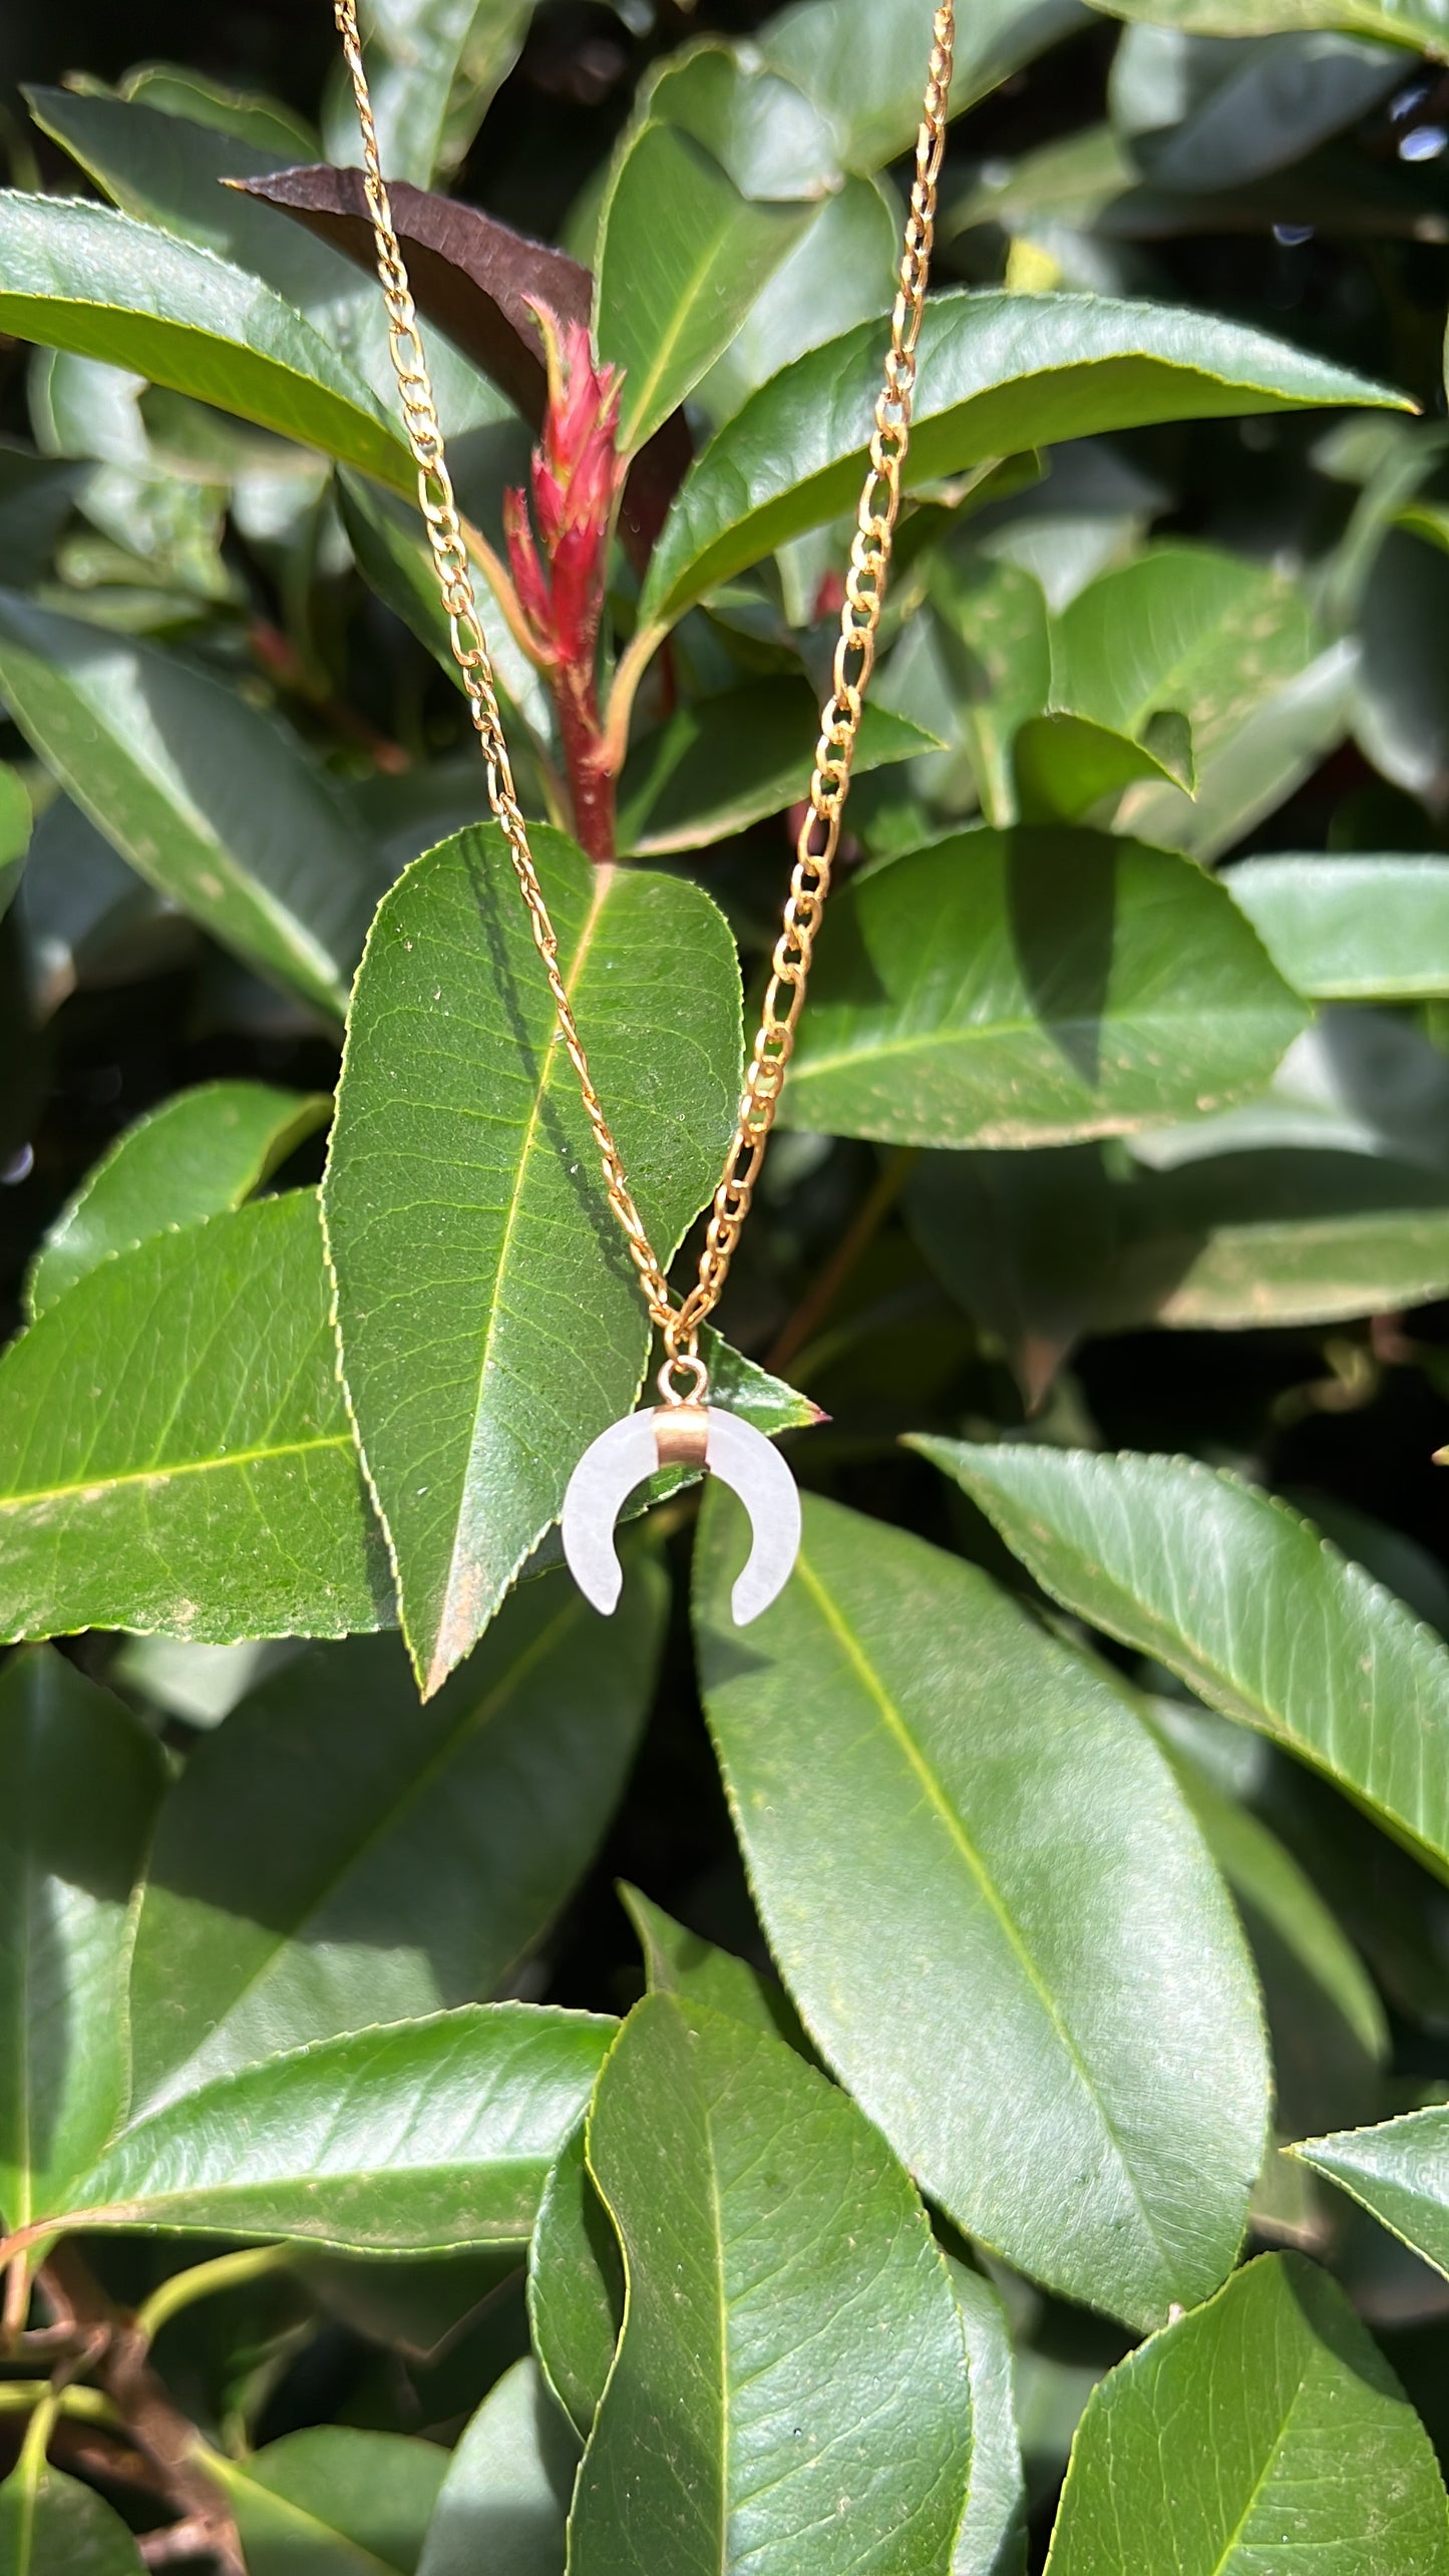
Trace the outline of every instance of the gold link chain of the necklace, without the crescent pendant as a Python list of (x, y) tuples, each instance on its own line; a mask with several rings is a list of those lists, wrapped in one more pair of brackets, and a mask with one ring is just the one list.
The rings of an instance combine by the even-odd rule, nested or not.
[(523, 809), (513, 788), (508, 742), (503, 739), (503, 719), (498, 714), (492, 659), (482, 618), (477, 613), (472, 567), (454, 502), (438, 404), (433, 399), (433, 381), (423, 355), (423, 335), (418, 330), (418, 309), (407, 286), (402, 245), (392, 222), (392, 201), (382, 175), (356, 0), (335, 0), (335, 18), (358, 106), (364, 183), (371, 229), (376, 237), (376, 273), (387, 301), (387, 337), (397, 374), (397, 392), (402, 397), (402, 422), (418, 466), (418, 502), (423, 507), (428, 544), (438, 569), (438, 595), (449, 618), (454, 659), (462, 672), (472, 721), (487, 762), (487, 801), (503, 827), (508, 855), (513, 858), (513, 871), (529, 907), (534, 943), (544, 961), (544, 974), (554, 997), (559, 1036), (578, 1074), (578, 1087), (593, 1128), (598, 1159), (603, 1164), (608, 1206), (624, 1229), (650, 1316), (663, 1334), (665, 1368), (660, 1373), (660, 1391), (668, 1401), (683, 1401), (673, 1381), (676, 1373), (688, 1376), (688, 1396), (699, 1401), (709, 1386), (709, 1373), (699, 1358), (699, 1327), (714, 1314), (714, 1306), (724, 1293), (730, 1262), (735, 1260), (740, 1229), (750, 1213), (750, 1200), (755, 1195), (755, 1182), (761, 1177), (761, 1164), (776, 1123), (786, 1066), (794, 1054), (794, 1030), (799, 1025), (799, 1012), (804, 1010), (804, 987), (810, 981), (815, 935), (820, 930), (820, 914), (825, 909), (825, 896), (830, 894), (830, 873), (841, 848), (841, 817), (846, 811), (846, 796), (851, 793), (861, 711), (877, 659), (890, 554), (900, 515), (902, 466), (910, 448), (915, 343), (920, 337), (926, 283), (931, 276), (931, 247), (936, 237), (936, 191), (946, 149), (946, 103), (951, 93), (957, 0), (941, 0), (936, 8), (931, 70), (926, 77), (920, 131), (915, 137), (915, 180), (910, 188), (910, 214), (905, 219), (900, 286), (890, 319), (884, 384), (877, 397), (871, 461), (856, 513), (856, 536), (851, 541), (851, 569), (846, 574), (846, 603), (841, 608), (833, 688), (820, 714), (815, 773), (799, 829), (789, 899), (771, 961), (771, 979), (766, 984), (761, 1028), (755, 1033), (750, 1069), (745, 1074), (740, 1121), (735, 1126), (724, 1175), (714, 1193), (704, 1252), (699, 1255), (699, 1278), (681, 1306), (670, 1298), (670, 1285), (634, 1206), (619, 1146), (614, 1144), (603, 1103), (598, 1100), (593, 1074), (588, 1072), (588, 1056), (583, 1051), (567, 984), (559, 974), (559, 943), (549, 920), (534, 853), (529, 848), (529, 824), (523, 822)]

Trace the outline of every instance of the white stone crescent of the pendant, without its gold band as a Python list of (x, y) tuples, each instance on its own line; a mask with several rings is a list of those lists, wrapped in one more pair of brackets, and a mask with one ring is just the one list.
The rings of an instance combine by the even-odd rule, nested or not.
[[(750, 1515), (750, 1561), (730, 1595), (735, 1628), (748, 1628), (784, 1592), (799, 1556), (799, 1486), (753, 1422), (724, 1414), (717, 1404), (709, 1404), (706, 1414), (704, 1463)], [(657, 1463), (655, 1414), (627, 1414), (601, 1432), (570, 1476), (562, 1512), (565, 1558), (583, 1597), (606, 1618), (619, 1607), (624, 1589), (614, 1522)]]

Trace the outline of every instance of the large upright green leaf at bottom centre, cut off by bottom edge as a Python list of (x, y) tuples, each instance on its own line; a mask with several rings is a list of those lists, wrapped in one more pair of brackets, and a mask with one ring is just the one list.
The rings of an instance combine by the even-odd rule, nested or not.
[(779, 2040), (652, 1994), (598, 2079), (588, 2164), (629, 2311), (570, 2576), (946, 2576), (962, 2329), (926, 2213), (856, 2105)]

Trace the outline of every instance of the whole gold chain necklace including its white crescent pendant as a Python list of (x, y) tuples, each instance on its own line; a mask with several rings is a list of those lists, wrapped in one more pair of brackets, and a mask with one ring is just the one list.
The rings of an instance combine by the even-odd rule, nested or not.
[[(627, 1414), (606, 1430), (580, 1458), (562, 1510), (565, 1556), (575, 1582), (598, 1610), (614, 1610), (621, 1589), (619, 1558), (614, 1553), (614, 1520), (629, 1492), (660, 1466), (709, 1466), (735, 1486), (753, 1522), (750, 1561), (735, 1584), (732, 1610), (737, 1625), (758, 1618), (781, 1592), (799, 1551), (799, 1494), (779, 1450), (753, 1425), (709, 1404), (709, 1370), (699, 1355), (699, 1329), (714, 1314), (740, 1231), (750, 1213), (761, 1164), (786, 1066), (794, 1051), (794, 1030), (804, 1010), (810, 961), (830, 873), (841, 845), (841, 819), (851, 793), (851, 770), (869, 677), (877, 659), (879, 621), (900, 515), (900, 487), (910, 448), (910, 415), (915, 397), (915, 343), (926, 309), (926, 283), (931, 276), (931, 247), (936, 237), (936, 191), (941, 157), (946, 149), (946, 106), (951, 93), (951, 59), (957, 39), (957, 0), (941, 0), (931, 33), (931, 67), (926, 98), (920, 103), (920, 131), (915, 137), (915, 178), (910, 185), (910, 214), (900, 255), (900, 283), (890, 317), (890, 350), (884, 381), (874, 410), (871, 459), (851, 538), (851, 564), (846, 572), (846, 603), (841, 608), (841, 636), (835, 644), (833, 688), (820, 714), (820, 739), (815, 744), (815, 773), (799, 829), (789, 899), (781, 933), (771, 958), (771, 976), (761, 1007), (761, 1028), (745, 1074), (740, 1118), (730, 1141), (730, 1154), (709, 1226), (699, 1275), (688, 1296), (676, 1306), (670, 1285), (650, 1244), (645, 1221), (634, 1206), (629, 1177), (603, 1103), (588, 1072), (588, 1054), (578, 1033), (567, 984), (559, 974), (559, 943), (529, 848), (529, 824), (513, 788), (513, 765), (498, 714), (498, 690), (487, 636), (477, 613), (472, 567), (462, 520), (454, 502), (454, 484), (433, 397), (433, 379), (418, 330), (418, 307), (407, 283), (402, 245), (392, 222), (392, 201), (382, 175), (371, 93), (364, 70), (356, 0), (335, 0), (338, 33), (353, 80), (358, 126), (364, 139), (364, 185), (376, 240), (376, 273), (387, 301), (387, 337), (397, 392), (402, 397), (402, 422), (407, 446), (418, 466), (418, 502), (438, 572), (438, 598), (449, 618), (454, 659), (467, 690), (469, 714), (487, 765), (487, 801), (498, 817), (518, 889), (529, 907), (534, 943), (544, 961), (559, 1036), (603, 1164), (608, 1206), (624, 1229), (624, 1242), (650, 1316), (663, 1337), (665, 1363), (657, 1376), (663, 1404), (655, 1412)], [(686, 1388), (676, 1381), (686, 1378)]]

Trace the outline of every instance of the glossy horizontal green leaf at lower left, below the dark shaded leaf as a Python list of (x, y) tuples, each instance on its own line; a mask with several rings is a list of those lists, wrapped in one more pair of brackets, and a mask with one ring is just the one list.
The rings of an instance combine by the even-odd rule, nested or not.
[(46, 2218), (356, 2254), (518, 2241), (614, 2027), (464, 2004), (291, 2048), (134, 2120)]

